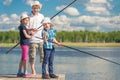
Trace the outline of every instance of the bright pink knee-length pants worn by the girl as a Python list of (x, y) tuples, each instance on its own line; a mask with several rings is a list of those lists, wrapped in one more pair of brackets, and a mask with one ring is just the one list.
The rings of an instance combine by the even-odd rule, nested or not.
[(21, 60), (22, 61), (27, 61), (28, 60), (28, 49), (29, 46), (28, 45), (20, 45), (21, 49), (22, 49), (22, 56), (21, 56)]

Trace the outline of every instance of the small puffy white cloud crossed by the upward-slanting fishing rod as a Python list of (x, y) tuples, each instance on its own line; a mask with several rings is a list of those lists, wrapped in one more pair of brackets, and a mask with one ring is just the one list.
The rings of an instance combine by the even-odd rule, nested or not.
[[(57, 10), (57, 11), (60, 11), (60, 10), (62, 10), (63, 8), (65, 8), (64, 5), (58, 6), (58, 7), (56, 7), (56, 10)], [(69, 14), (69, 15), (71, 15), (71, 16), (77, 16), (77, 15), (80, 14), (79, 11), (78, 11), (75, 7), (68, 7), (68, 8), (66, 8), (66, 9), (64, 10), (64, 13)]]

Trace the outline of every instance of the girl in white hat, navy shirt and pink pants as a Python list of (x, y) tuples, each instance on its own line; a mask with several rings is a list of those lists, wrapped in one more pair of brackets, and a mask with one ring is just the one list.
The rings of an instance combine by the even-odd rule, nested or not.
[[(19, 33), (20, 33), (20, 46), (22, 49), (21, 60), (19, 63), (19, 69), (17, 73), (17, 77), (30, 77), (31, 75), (27, 73), (27, 61), (28, 61), (28, 49), (29, 49), (29, 38), (31, 36), (28, 33), (26, 25), (29, 22), (29, 17), (27, 14), (23, 14), (20, 18), (20, 26), (19, 26)], [(22, 68), (24, 72), (22, 73)]]

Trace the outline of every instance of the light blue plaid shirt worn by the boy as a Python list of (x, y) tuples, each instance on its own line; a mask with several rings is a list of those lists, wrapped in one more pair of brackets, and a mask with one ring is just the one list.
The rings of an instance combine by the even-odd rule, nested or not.
[[(44, 29), (43, 32), (46, 32), (46, 38), (47, 38), (47, 42), (44, 42), (43, 48), (52, 49), (54, 45), (54, 38), (56, 36), (56, 32), (54, 28), (50, 28), (50, 30)], [(43, 34), (43, 37), (45, 37), (44, 34)]]

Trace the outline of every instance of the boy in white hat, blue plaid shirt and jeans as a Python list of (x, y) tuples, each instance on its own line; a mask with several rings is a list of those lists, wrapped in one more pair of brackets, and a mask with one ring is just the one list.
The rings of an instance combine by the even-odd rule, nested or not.
[[(53, 24), (50, 21), (50, 18), (45, 18), (43, 21), (43, 50), (44, 50), (44, 59), (42, 63), (42, 78), (43, 79), (49, 79), (49, 78), (58, 78), (54, 74), (54, 69), (53, 69), (53, 61), (54, 61), (54, 54), (55, 54), (55, 48), (54, 48), (54, 43), (57, 45), (62, 45), (59, 43), (55, 36), (56, 33), (53, 29)], [(48, 65), (48, 72), (49, 75), (47, 75), (47, 70), (46, 70), (46, 65)]]

